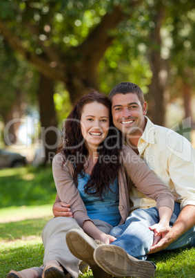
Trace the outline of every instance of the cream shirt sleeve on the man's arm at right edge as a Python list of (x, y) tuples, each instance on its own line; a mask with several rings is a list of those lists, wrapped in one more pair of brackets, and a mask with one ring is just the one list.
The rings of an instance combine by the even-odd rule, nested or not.
[(168, 169), (181, 210), (195, 205), (195, 151), (186, 138), (180, 136), (170, 147)]

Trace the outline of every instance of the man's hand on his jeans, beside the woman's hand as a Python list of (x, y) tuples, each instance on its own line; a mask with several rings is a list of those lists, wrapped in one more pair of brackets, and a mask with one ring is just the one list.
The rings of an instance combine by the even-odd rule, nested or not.
[[(152, 230), (152, 229), (150, 229), (150, 230)], [(152, 244), (152, 247), (150, 248), (150, 252), (147, 254), (152, 254), (152, 253), (161, 251), (176, 240), (174, 237), (174, 231), (172, 230), (171, 227), (168, 227), (168, 226), (157, 230), (157, 232), (154, 232), (154, 234), (155, 234), (154, 235), (154, 243)], [(158, 237), (157, 243), (156, 243), (155, 237)], [(161, 237), (161, 239), (159, 239), (159, 237)]]

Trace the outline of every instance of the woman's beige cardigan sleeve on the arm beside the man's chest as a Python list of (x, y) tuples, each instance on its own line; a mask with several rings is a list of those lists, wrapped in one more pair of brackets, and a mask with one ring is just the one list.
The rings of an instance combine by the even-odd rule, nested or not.
[(123, 165), (134, 186), (148, 198), (156, 201), (156, 208), (170, 207), (174, 210), (174, 196), (170, 190), (147, 167), (145, 162), (130, 148), (123, 148)]

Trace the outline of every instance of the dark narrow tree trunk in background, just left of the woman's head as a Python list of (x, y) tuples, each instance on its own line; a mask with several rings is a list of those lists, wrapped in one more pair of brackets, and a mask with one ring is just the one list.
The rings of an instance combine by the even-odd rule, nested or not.
[(41, 139), (45, 149), (43, 164), (51, 162), (58, 146), (59, 130), (57, 129), (57, 116), (54, 109), (53, 96), (54, 81), (40, 73), (38, 97), (41, 118)]

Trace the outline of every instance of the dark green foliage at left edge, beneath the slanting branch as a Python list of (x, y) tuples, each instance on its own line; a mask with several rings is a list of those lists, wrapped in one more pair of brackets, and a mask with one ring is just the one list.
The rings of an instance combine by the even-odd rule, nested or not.
[(17, 59), (0, 36), (0, 115), (6, 115), (14, 104), (37, 104), (37, 75), (27, 62)]

